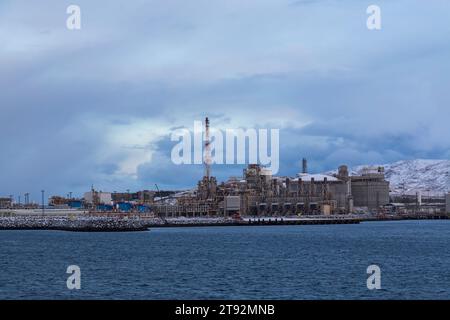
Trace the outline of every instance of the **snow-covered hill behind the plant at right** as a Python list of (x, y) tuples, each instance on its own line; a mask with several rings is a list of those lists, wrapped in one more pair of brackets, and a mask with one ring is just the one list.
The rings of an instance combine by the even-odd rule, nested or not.
[[(450, 160), (402, 160), (375, 166), (384, 167), (393, 193), (414, 194), (421, 191), (424, 195), (431, 195), (450, 189)], [(367, 165), (350, 168), (350, 174), (360, 174), (364, 167)]]

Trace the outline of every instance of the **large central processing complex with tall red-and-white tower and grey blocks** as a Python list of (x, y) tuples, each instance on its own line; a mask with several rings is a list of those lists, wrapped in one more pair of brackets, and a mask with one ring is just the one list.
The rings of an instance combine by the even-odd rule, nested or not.
[(367, 168), (350, 176), (347, 166), (337, 174), (309, 174), (307, 161), (296, 177), (272, 176), (270, 170), (250, 164), (242, 177), (218, 184), (211, 176), (209, 120), (205, 121), (205, 174), (197, 189), (176, 199), (175, 204), (155, 205), (167, 216), (286, 216), (301, 214), (345, 214), (355, 207), (376, 211), (389, 203), (389, 182), (381, 167)]

